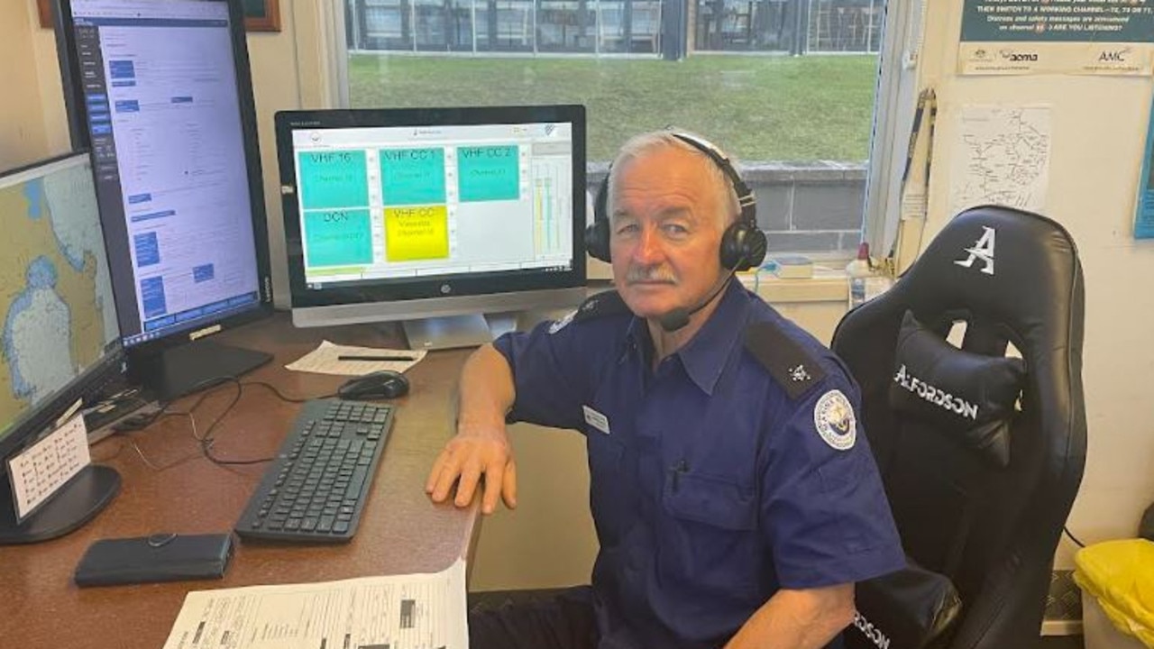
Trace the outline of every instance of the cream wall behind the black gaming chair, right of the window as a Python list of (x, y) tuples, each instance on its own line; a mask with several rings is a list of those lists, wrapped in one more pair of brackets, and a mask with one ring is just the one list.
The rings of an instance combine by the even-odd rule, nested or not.
[[(1147, 394), (1154, 292), (1154, 243), (1131, 237), (1134, 196), (1152, 99), (1149, 79), (957, 76), (961, 0), (928, 2), (920, 80), (937, 91), (930, 219), (926, 240), (946, 221), (951, 142), (964, 104), (1050, 104), (1052, 140), (1044, 212), (1070, 230), (1086, 276), (1082, 381), (1089, 430), (1081, 491), (1069, 527), (1082, 542), (1132, 537), (1154, 500), (1154, 434)], [(1063, 539), (1057, 567), (1071, 566)]]

